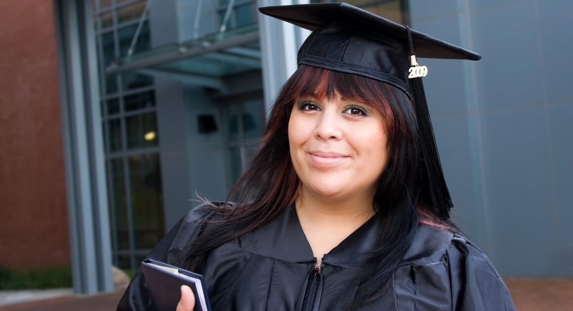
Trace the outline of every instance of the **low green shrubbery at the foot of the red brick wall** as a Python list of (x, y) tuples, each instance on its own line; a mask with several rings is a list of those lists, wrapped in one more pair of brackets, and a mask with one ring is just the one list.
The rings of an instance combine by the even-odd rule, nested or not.
[(46, 267), (26, 270), (0, 266), (0, 290), (72, 287), (70, 267)]

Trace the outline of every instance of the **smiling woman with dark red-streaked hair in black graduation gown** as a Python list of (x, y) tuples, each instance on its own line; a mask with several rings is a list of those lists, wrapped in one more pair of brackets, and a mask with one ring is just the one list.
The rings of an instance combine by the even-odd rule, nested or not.
[[(450, 221), (427, 69), (410, 63), (415, 45), (479, 56), (345, 4), (260, 10), (313, 30), (299, 68), (231, 190), (238, 203), (191, 211), (149, 257), (202, 273), (214, 310), (515, 309)], [(178, 310), (193, 306), (182, 288)], [(138, 272), (118, 309), (151, 308)]]

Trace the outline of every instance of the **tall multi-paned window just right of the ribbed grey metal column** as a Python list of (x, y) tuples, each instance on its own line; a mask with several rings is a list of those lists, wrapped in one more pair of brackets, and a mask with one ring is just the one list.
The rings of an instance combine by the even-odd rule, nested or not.
[[(146, 1), (133, 0), (89, 0), (96, 9), (95, 27), (104, 33), (96, 44), (101, 64), (99, 74), (103, 80), (102, 97), (133, 90), (153, 84), (153, 78), (136, 72), (105, 74), (118, 58), (127, 56), (143, 13)], [(129, 1), (129, 2), (128, 2)], [(127, 3), (128, 2), (128, 3)], [(101, 10), (104, 12), (101, 12)], [(101, 13), (99, 13), (101, 12)], [(125, 25), (129, 23), (131, 25)], [(124, 25), (119, 26), (118, 24)], [(144, 21), (134, 53), (151, 48), (149, 22)], [(121, 79), (121, 80), (120, 80)], [(104, 89), (105, 88), (105, 89)], [(123, 106), (122, 106), (123, 105)], [(131, 268), (152, 249), (164, 235), (163, 198), (161, 191), (159, 154), (124, 155), (122, 152), (158, 145), (156, 112), (122, 116), (122, 112), (133, 113), (140, 109), (155, 107), (154, 92), (113, 96), (101, 101), (108, 174), (109, 216), (112, 234), (114, 263), (122, 268)], [(124, 110), (122, 110), (124, 109)], [(151, 110), (151, 109), (150, 109)], [(109, 119), (109, 117), (113, 119)], [(129, 188), (127, 188), (129, 187)], [(129, 195), (129, 198), (127, 196)], [(127, 202), (131, 202), (128, 206)], [(128, 214), (131, 211), (131, 214)], [(131, 223), (128, 222), (131, 219)], [(131, 230), (131, 231), (130, 231)], [(129, 237), (134, 240), (132, 244)], [(132, 249), (138, 249), (135, 253)]]

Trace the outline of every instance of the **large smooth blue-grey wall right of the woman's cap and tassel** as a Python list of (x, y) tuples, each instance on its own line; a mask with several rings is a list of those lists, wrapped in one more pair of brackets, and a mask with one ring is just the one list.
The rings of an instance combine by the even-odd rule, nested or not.
[(419, 62), (454, 218), (508, 276), (573, 276), (572, 10), (410, 1), (414, 29), (483, 56)]

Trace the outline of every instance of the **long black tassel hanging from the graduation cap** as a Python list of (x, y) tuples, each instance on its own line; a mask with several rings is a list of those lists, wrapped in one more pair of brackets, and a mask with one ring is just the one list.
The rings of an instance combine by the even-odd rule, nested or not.
[[(406, 28), (410, 44), (410, 54), (414, 55), (414, 45), (411, 39), (410, 28)], [(416, 77), (410, 78), (409, 80), (418, 125), (418, 146), (420, 151), (419, 174), (422, 182), (420, 199), (422, 203), (440, 219), (448, 219), (449, 211), (453, 207), (453, 203), (448, 186), (446, 185), (446, 180), (444, 179), (442, 164), (439, 160), (438, 148), (435, 143), (434, 130), (431, 125), (430, 112), (428, 111), (426, 103), (426, 93), (424, 92), (422, 78)]]

